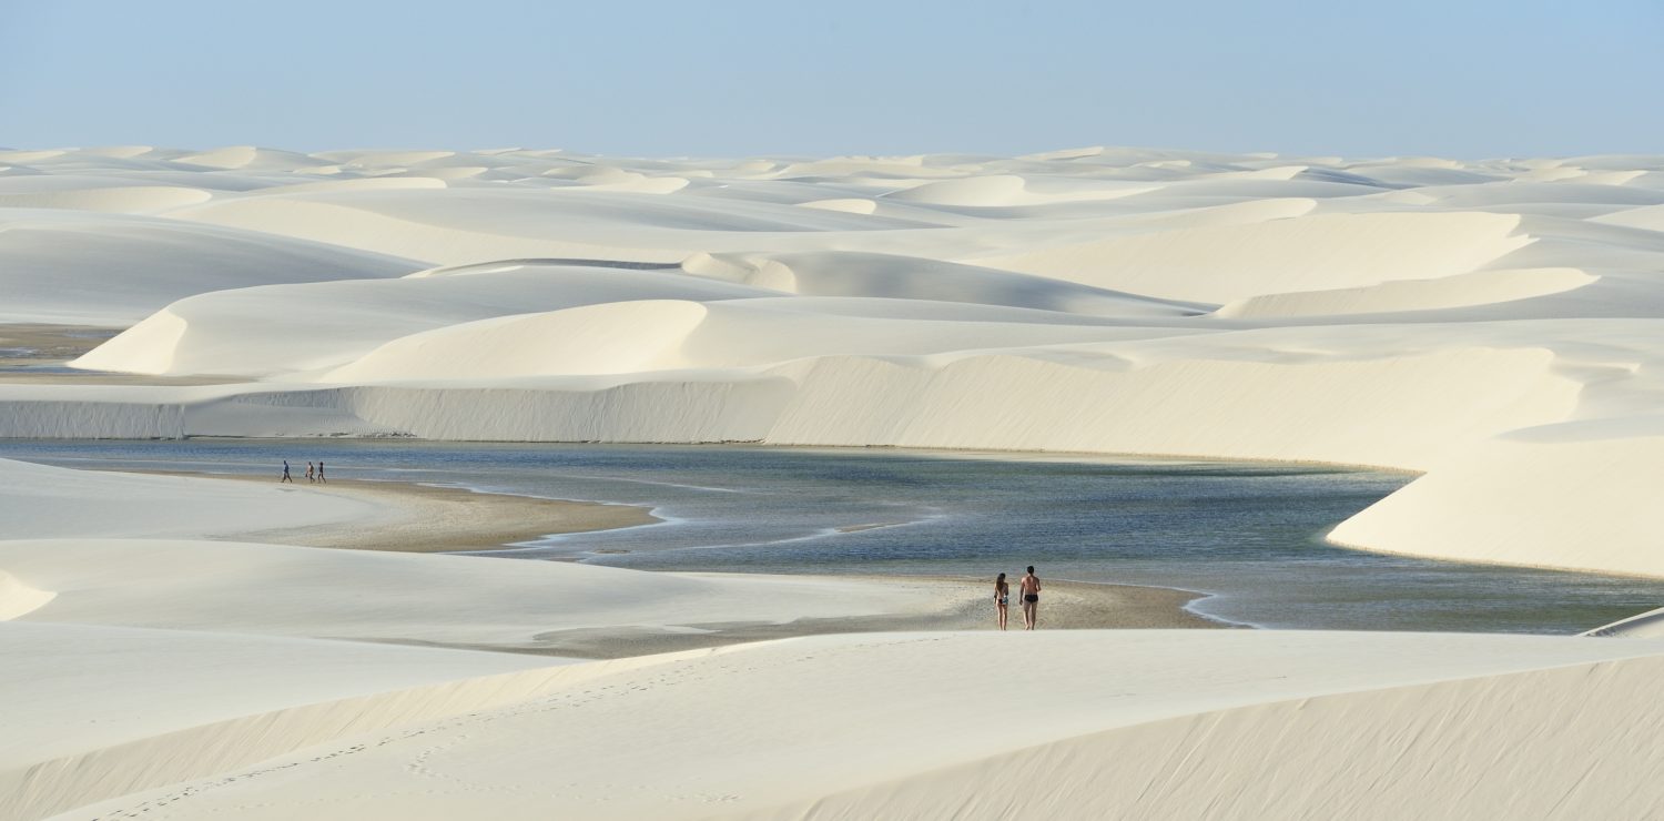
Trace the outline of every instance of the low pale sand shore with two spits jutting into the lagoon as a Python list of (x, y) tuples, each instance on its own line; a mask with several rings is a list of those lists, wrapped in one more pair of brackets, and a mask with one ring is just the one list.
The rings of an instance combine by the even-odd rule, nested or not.
[[(987, 580), (674, 575), (419, 555), (654, 521), (637, 506), (409, 483), (280, 485), (18, 461), (0, 461), (0, 476), (17, 483), (0, 495), (0, 511), (13, 511), (18, 528), (18, 538), (0, 541), (0, 591), (13, 588), (13, 618), (582, 658), (995, 623)], [(72, 515), (88, 495), (108, 500), (103, 516)], [(123, 496), (131, 501), (123, 505)], [(273, 528), (285, 516), (313, 523)], [(115, 535), (130, 538), (108, 538)], [(1183, 610), (1195, 598), (1165, 588), (1048, 583), (1042, 624), (1218, 626)], [(1020, 624), (1017, 608), (1012, 619)]]

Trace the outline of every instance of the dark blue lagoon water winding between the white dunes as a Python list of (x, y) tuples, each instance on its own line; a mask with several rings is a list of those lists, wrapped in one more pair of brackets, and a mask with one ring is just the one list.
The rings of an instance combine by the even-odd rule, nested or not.
[(331, 476), (652, 506), (664, 525), (506, 558), (637, 570), (1043, 578), (1205, 593), (1265, 628), (1579, 633), (1664, 605), (1664, 580), (1386, 556), (1323, 535), (1411, 481), (1321, 465), (750, 445), (0, 440), (75, 468)]

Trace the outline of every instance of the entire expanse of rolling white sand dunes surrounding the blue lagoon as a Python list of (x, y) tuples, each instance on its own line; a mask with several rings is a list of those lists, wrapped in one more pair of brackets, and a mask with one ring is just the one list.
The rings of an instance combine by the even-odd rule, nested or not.
[[(1421, 476), (1331, 541), (1664, 576), (1661, 208), (1664, 157), (1642, 155), (0, 152), (0, 321), (28, 323), (0, 333), (0, 436), (1354, 463)], [(121, 333), (63, 361), (98, 328)], [(0, 669), (0, 814), (1664, 801), (1656, 611), (1592, 631), (1612, 638), (849, 633), (647, 656), (953, 628), (973, 603), (268, 543), (423, 510), (0, 461), (0, 649), (23, 659)], [(1117, 623), (1168, 624), (1140, 619)]]

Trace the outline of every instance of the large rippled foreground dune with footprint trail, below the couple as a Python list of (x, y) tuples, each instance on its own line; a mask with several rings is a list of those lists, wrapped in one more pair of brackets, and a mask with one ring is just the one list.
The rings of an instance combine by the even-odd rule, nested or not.
[(62, 818), (1636, 816), (1664, 798), (1647, 778), (1664, 713), (1636, 708), (1657, 651), (1461, 634), (820, 636), (577, 668), (514, 704)]

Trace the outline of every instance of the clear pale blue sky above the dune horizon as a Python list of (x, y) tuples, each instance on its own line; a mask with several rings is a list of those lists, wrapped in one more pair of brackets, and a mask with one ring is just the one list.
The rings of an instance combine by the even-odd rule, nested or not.
[(1664, 153), (1664, 0), (0, 0), (0, 145)]

